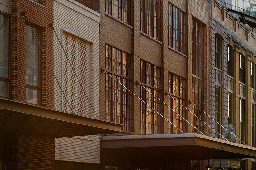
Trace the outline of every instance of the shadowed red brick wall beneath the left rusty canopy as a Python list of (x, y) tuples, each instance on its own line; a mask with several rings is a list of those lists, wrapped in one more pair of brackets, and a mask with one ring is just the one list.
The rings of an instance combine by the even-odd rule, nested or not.
[[(9, 134), (6, 137), (6, 167), (12, 169), (54, 169), (54, 144), (51, 139)], [(26, 164), (29, 162), (29, 164)], [(40, 165), (36, 165), (40, 163)], [(49, 163), (49, 166), (46, 165)]]

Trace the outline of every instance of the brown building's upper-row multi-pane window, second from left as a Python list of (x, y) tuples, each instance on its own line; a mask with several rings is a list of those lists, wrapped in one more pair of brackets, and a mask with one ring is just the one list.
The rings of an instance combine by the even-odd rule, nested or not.
[(160, 39), (160, 0), (140, 0), (140, 31)]

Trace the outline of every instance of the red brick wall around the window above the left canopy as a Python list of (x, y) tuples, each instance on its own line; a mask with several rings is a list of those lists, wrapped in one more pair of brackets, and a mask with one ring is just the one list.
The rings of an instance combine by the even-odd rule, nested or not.
[[(53, 1), (42, 0), (44, 7), (28, 1), (12, 1), (11, 17), (11, 98), (26, 101), (25, 86), (25, 28), (26, 20), (21, 16), (24, 10), (28, 20), (41, 31), (41, 45), (50, 64), (53, 64), (53, 30), (49, 23), (53, 22)], [(41, 103), (44, 107), (53, 108), (53, 74), (46, 59), (41, 53)]]

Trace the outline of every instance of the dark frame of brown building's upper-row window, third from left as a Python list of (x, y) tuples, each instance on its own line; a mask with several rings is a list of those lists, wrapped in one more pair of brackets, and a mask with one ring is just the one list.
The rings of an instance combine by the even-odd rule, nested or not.
[[(178, 11), (178, 18), (177, 18), (177, 22), (178, 22), (178, 34), (177, 34), (177, 47), (178, 49), (176, 49), (176, 47), (174, 47), (174, 41), (176, 41), (174, 39), (174, 28), (173, 27), (173, 20), (174, 20), (174, 16), (173, 16), (173, 8), (176, 8)], [(183, 16), (183, 18), (181, 18), (181, 16)], [(181, 30), (181, 26), (182, 26), (182, 30)], [(171, 47), (172, 49), (181, 52), (182, 54), (185, 54), (185, 12), (183, 12), (181, 9), (179, 9), (178, 7), (176, 7), (175, 5), (173, 5), (172, 3), (168, 3), (168, 46)], [(183, 32), (184, 31), (184, 32)], [(181, 42), (181, 36), (182, 36), (182, 42)], [(181, 46), (182, 46), (182, 50), (181, 50)]]

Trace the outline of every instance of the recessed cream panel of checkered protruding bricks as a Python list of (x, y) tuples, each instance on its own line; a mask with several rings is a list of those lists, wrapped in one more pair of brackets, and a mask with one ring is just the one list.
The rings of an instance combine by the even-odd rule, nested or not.
[[(63, 32), (63, 47), (90, 100), (90, 43)], [(62, 55), (62, 61), (62, 86), (69, 104), (74, 114), (90, 117), (89, 101), (64, 54)], [(71, 113), (64, 96), (63, 111)]]

